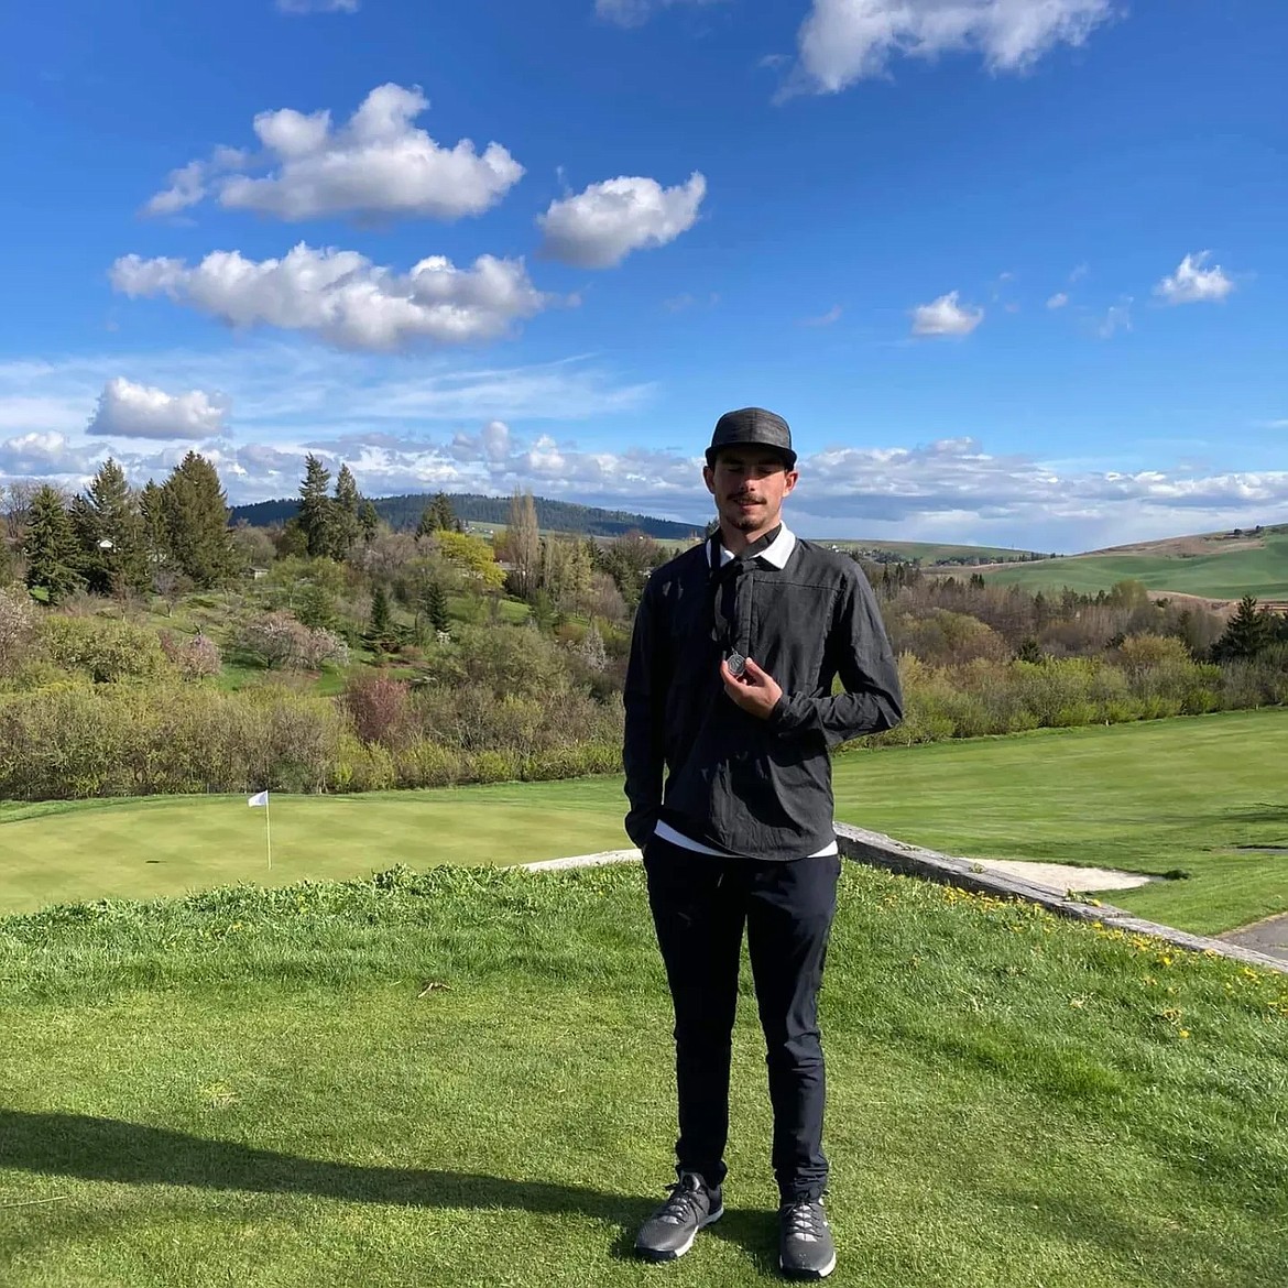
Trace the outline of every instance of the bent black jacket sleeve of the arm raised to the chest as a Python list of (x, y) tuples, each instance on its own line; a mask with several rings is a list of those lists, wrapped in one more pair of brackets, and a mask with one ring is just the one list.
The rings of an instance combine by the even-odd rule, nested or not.
[(831, 697), (784, 693), (770, 712), (770, 726), (784, 738), (822, 734), (828, 747), (866, 733), (893, 729), (903, 719), (899, 668), (890, 650), (881, 611), (858, 568), (846, 577), (828, 640), (844, 693)]

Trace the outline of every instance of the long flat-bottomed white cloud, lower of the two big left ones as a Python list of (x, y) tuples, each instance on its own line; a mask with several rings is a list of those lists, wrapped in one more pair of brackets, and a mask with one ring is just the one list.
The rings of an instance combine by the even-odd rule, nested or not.
[(215, 251), (193, 268), (126, 255), (111, 279), (130, 298), (167, 295), (229, 326), (309, 331), (345, 349), (492, 340), (553, 303), (528, 279), (523, 260), (482, 255), (460, 269), (439, 255), (398, 274), (357, 251), (303, 242), (282, 259)]

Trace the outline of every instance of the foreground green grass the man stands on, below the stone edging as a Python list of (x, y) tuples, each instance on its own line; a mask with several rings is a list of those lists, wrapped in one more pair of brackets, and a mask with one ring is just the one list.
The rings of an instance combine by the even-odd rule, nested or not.
[[(728, 1216), (658, 1270), (627, 1256), (674, 1139), (638, 868), (0, 921), (0, 1282), (773, 1283), (751, 1001)], [(1285, 1012), (1279, 976), (848, 866), (831, 1282), (1280, 1288)]]

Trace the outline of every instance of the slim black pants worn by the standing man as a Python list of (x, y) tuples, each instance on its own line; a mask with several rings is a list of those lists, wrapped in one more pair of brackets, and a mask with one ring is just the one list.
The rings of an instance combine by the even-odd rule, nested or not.
[(774, 1176), (783, 1200), (818, 1198), (827, 1184), (818, 990), (841, 860), (721, 859), (650, 840), (644, 868), (675, 1003), (680, 1170), (698, 1172), (708, 1185), (725, 1177), (730, 1039), (746, 925), (774, 1110)]

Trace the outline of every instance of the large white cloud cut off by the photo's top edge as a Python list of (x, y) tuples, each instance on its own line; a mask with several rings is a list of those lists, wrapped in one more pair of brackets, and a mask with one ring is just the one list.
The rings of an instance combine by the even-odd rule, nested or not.
[(953, 50), (978, 52), (994, 72), (1024, 71), (1056, 45), (1083, 44), (1113, 10), (1112, 0), (814, 0), (796, 80), (837, 93), (896, 57)]

